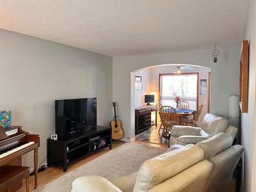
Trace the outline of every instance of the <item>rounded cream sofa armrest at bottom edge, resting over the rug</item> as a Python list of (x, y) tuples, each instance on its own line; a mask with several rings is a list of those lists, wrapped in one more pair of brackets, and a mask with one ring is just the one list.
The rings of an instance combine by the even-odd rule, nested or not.
[(72, 192), (101, 192), (101, 191), (110, 191), (110, 192), (122, 192), (110, 181), (106, 180), (103, 177), (96, 175), (82, 176), (75, 179), (72, 183)]

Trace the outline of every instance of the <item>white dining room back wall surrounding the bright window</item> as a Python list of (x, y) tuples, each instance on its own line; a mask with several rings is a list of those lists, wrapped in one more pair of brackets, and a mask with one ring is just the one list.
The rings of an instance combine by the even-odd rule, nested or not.
[[(151, 85), (151, 91), (152, 92), (156, 92), (157, 93), (157, 101), (159, 98), (159, 74), (164, 74), (164, 73), (174, 73), (174, 69), (175, 66), (162, 66), (162, 67), (152, 67), (150, 68), (150, 72), (151, 72), (151, 79), (150, 79), (150, 85)], [(201, 115), (199, 117), (199, 126), (202, 124), (203, 122), (203, 117), (206, 115), (207, 113), (207, 97), (208, 97), (208, 92), (207, 92), (207, 88), (206, 88), (206, 95), (200, 95), (200, 79), (206, 79), (207, 84), (208, 84), (208, 72), (210, 72), (209, 68), (202, 68), (202, 67), (195, 67), (193, 66), (193, 70), (182, 70), (182, 73), (199, 73), (199, 82), (198, 82), (198, 89), (199, 89), (199, 93), (198, 93), (198, 105), (203, 104), (203, 109), (201, 112)], [(208, 86), (208, 85), (207, 85)], [(159, 119), (159, 116), (158, 116)], [(159, 121), (158, 121), (159, 122)]]

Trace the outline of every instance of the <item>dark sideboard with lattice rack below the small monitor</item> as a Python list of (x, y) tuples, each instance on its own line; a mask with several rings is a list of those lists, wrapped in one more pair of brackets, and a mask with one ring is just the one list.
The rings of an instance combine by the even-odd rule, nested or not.
[[(152, 123), (152, 112), (156, 113), (155, 122)], [(157, 107), (154, 105), (135, 108), (135, 135), (147, 130), (149, 127), (157, 126)]]

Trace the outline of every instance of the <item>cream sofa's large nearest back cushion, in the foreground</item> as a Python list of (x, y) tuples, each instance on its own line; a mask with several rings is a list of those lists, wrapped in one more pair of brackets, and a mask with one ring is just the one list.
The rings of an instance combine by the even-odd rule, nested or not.
[(147, 191), (202, 161), (202, 148), (189, 144), (180, 150), (164, 153), (145, 161), (139, 170), (134, 191)]

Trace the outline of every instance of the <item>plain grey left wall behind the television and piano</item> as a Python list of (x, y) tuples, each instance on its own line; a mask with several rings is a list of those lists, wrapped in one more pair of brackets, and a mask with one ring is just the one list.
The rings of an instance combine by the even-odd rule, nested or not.
[[(0, 109), (40, 135), (39, 163), (55, 133), (55, 99), (97, 97), (97, 123), (112, 119), (111, 57), (0, 29), (0, 69)], [(32, 166), (32, 154), (23, 162)]]

